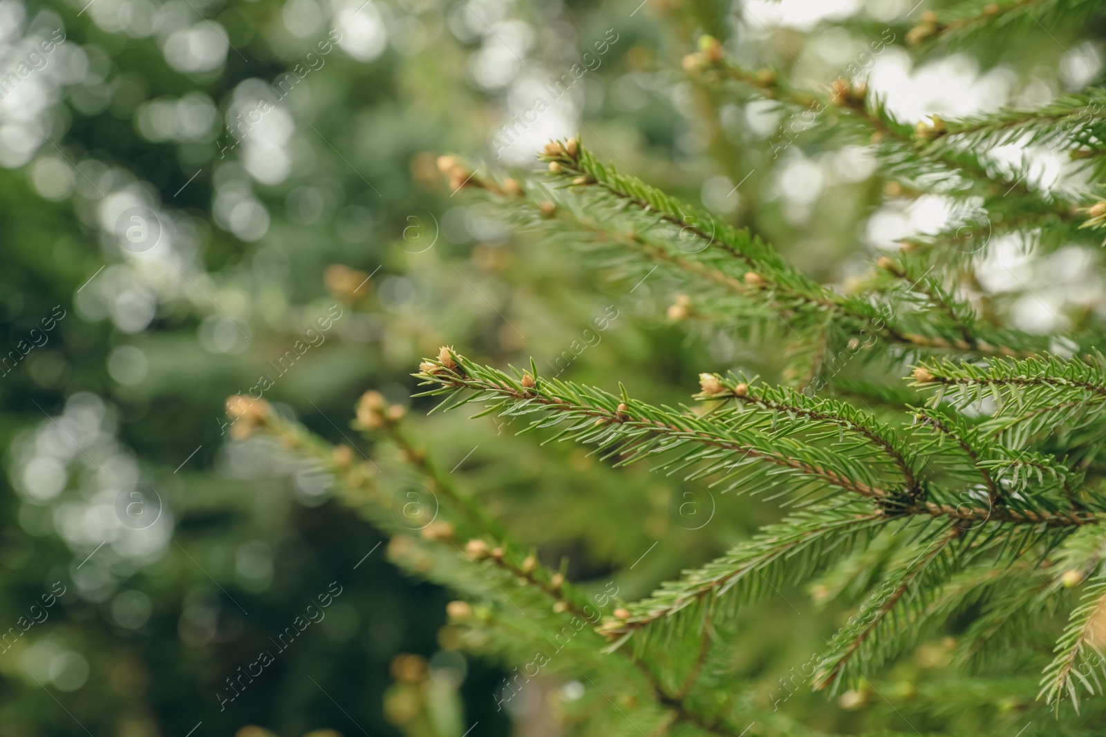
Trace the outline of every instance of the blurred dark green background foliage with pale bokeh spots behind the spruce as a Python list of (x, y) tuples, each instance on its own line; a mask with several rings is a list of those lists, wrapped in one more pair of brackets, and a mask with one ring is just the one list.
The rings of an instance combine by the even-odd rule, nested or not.
[[(436, 157), (529, 167), (578, 130), (845, 284), (862, 256), (937, 230), (940, 203), (887, 200), (860, 144), (813, 137), (773, 156), (779, 113), (690, 82), (680, 60), (707, 32), (817, 87), (886, 31), (865, 72), (911, 122), (1040, 104), (1099, 74), (1100, 18), (1063, 60), (1063, 29), (908, 50), (912, 4), (0, 1), (0, 628), (17, 628), (0, 735), (556, 734), (556, 704), (581, 684), (512, 702), (512, 726), (500, 665), (456, 650), (448, 593), (388, 564), (317, 468), (227, 442), (225, 399), (260, 388), (384, 460), (395, 451), (348, 427), (357, 397), (409, 404), (410, 371), (442, 344), (650, 401), (682, 400), (703, 370), (779, 375), (785, 357), (757, 339), (705, 334), (648, 283), (612, 286), (512, 233), (451, 191)], [(48, 39), (64, 41), (48, 53)], [(134, 212), (156, 238), (127, 240)], [(413, 409), (420, 442), (544, 560), (597, 590), (617, 571), (626, 599), (778, 514)], [(136, 484), (152, 489), (140, 525)], [(55, 581), (65, 593), (24, 627)], [(332, 585), (319, 627), (281, 650)], [(734, 663), (764, 674), (762, 701), (837, 615), (784, 594), (748, 622)], [(925, 647), (905, 683), (948, 665), (941, 643)], [(273, 663), (221, 703), (262, 651)], [(866, 696), (849, 699), (789, 708), (847, 728)]]

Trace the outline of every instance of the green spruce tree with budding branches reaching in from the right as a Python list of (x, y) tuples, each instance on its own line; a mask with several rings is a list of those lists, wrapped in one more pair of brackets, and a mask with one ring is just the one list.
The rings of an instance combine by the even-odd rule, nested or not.
[[(941, 53), (985, 34), (1070, 30), (1095, 6), (953, 3), (902, 39)], [(812, 139), (865, 146), (889, 197), (937, 192), (968, 214), (867, 254), (863, 278), (846, 288), (603, 161), (586, 135), (550, 143), (538, 171), (490, 175), (442, 157), (451, 189), (497, 208), (523, 253), (557, 249), (623, 292), (649, 280), (668, 294), (671, 320), (770, 346), (787, 366), (764, 377), (705, 367), (684, 377), (693, 401), (678, 406), (634, 396), (632, 377), (586, 386), (534, 360), (489, 366), (460, 345), (426, 358), (415, 377), (437, 410), (478, 408), (534, 442), (578, 444), (612, 473), (646, 464), (719, 497), (757, 497), (745, 508), (771, 519), (758, 534), (630, 600), (619, 580), (632, 566), (609, 582), (571, 580), (519, 539), (484, 489), (435, 457), (420, 439), (432, 419), (413, 425), (380, 393), (366, 393), (354, 420), (372, 459), (241, 397), (228, 408), (236, 435), (279, 438), (324, 464), (344, 501), (393, 535), (393, 561), (458, 593), (444, 638), (502, 662), (500, 705), (534, 680), (582, 686), (563, 699), (581, 734), (1098, 734), (1100, 309), (1065, 316), (1063, 331), (1030, 331), (1010, 295), (994, 298), (979, 274), (998, 267), (987, 260), (1003, 240), (1036, 255), (1100, 248), (1106, 98), (1088, 88), (915, 126), (862, 81), (804, 90), (786, 70), (747, 67), (734, 52), (702, 36), (682, 73), (711, 99), (771, 101), (784, 123), (770, 155)], [(1011, 144), (1064, 157), (1058, 182), (1003, 165), (994, 149)], [(1016, 294), (1032, 297), (1033, 285)], [(606, 524), (617, 535), (632, 522)], [(826, 612), (796, 625), (822, 628), (824, 642), (782, 675), (761, 672), (748, 638), (763, 629), (765, 600), (796, 590)], [(905, 675), (922, 657), (951, 664), (936, 680)], [(811, 689), (834, 697), (834, 709), (873, 708), (792, 708)]]

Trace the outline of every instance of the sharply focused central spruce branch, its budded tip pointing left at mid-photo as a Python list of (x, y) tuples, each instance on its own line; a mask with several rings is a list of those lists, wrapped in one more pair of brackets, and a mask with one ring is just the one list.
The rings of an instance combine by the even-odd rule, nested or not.
[[(489, 404), (480, 414), (500, 411), (505, 415), (536, 414), (523, 432), (567, 424), (554, 440), (575, 440), (595, 444), (606, 457), (620, 455), (619, 465), (646, 456), (667, 455), (657, 470), (675, 472), (699, 465), (688, 478), (719, 474), (720, 482), (732, 480), (744, 465), (764, 462), (791, 473), (801, 497), (826, 496), (842, 489), (877, 503), (891, 517), (928, 515), (962, 522), (1013, 523), (1044, 527), (1074, 527), (1099, 524), (1103, 515), (1078, 510), (1063, 512), (1042, 506), (1013, 509), (993, 505), (990, 509), (952, 505), (942, 501), (917, 501), (900, 489), (878, 484), (867, 464), (841, 452), (823, 451), (810, 442), (796, 442), (787, 434), (803, 429), (789, 423), (773, 433), (742, 427), (733, 418), (696, 417), (688, 411), (658, 408), (623, 394), (614, 397), (581, 385), (540, 379), (533, 373), (512, 378), (489, 367), (476, 365), (449, 352), (449, 361), (428, 359), (414, 375), (424, 385), (436, 388), (420, 396), (448, 396), (442, 407), (455, 408), (476, 401)], [(703, 396), (721, 398), (723, 388), (711, 375), (703, 379)], [(713, 383), (712, 383), (713, 382)], [(472, 393), (465, 396), (466, 390)], [(975, 467), (973, 465), (973, 467)], [(720, 483), (719, 482), (719, 483)], [(749, 493), (774, 485), (774, 476), (743, 480)], [(731, 483), (731, 487), (734, 486)]]

